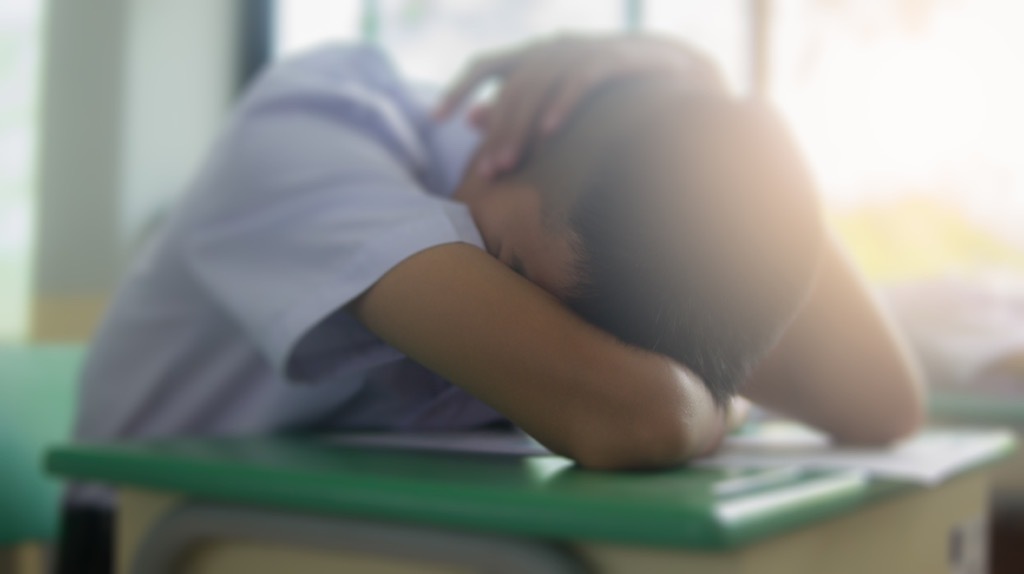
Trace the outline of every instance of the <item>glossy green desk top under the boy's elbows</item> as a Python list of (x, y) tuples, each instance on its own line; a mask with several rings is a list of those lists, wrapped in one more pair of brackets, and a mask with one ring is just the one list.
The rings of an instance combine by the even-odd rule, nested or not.
[(913, 487), (853, 473), (585, 471), (558, 456), (400, 452), (323, 438), (50, 451), (67, 478), (196, 498), (555, 539), (729, 548)]

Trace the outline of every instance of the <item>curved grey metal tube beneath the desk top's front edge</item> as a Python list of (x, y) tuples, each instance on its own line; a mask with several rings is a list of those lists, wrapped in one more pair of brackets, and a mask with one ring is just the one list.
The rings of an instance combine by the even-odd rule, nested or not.
[[(328, 551), (341, 562), (347, 555), (385, 557), (398, 564), (381, 572), (586, 572), (567, 550), (541, 542), (190, 501), (170, 507), (148, 526), (130, 559), (131, 568), (125, 572), (169, 574), (177, 571), (182, 560), (188, 565), (185, 571), (193, 572), (189, 554), (223, 540), (250, 541), (264, 548), (269, 544), (308, 553)], [(335, 560), (331, 570), (337, 571), (338, 564)], [(276, 570), (270, 567), (267, 571)]]

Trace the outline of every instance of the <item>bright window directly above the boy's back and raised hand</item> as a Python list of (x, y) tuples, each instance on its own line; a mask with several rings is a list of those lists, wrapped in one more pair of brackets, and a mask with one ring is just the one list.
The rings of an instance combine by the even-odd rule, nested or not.
[(744, 84), (746, 0), (279, 0), (274, 53), (332, 40), (377, 42), (402, 73), (443, 85), (475, 53), (537, 36), (653, 29), (685, 37)]

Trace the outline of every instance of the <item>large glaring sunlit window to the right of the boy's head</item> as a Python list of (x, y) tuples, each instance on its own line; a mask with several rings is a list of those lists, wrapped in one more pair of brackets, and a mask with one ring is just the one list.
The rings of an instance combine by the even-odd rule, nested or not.
[(777, 0), (771, 93), (869, 275), (1024, 271), (1024, 4)]

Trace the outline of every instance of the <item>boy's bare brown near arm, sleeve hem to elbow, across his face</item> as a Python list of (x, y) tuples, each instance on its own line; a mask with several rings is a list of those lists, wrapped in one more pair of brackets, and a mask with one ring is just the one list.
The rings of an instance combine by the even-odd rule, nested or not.
[(466, 244), (410, 257), (350, 309), (384, 341), (587, 467), (679, 463), (723, 432), (695, 374), (618, 343)]

